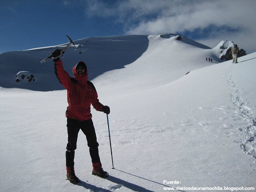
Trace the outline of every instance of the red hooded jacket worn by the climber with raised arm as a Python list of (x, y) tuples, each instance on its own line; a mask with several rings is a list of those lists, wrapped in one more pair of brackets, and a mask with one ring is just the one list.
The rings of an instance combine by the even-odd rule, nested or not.
[[(83, 61), (79, 63), (84, 64), (86, 67), (86, 63)], [(92, 118), (91, 104), (97, 111), (102, 111), (103, 105), (99, 102), (98, 94), (93, 83), (88, 81), (87, 67), (85, 74), (77, 74), (76, 66), (73, 67), (75, 78), (70, 77), (63, 69), (60, 59), (55, 62), (54, 68), (60, 83), (67, 89), (69, 106), (66, 117), (83, 121)]]

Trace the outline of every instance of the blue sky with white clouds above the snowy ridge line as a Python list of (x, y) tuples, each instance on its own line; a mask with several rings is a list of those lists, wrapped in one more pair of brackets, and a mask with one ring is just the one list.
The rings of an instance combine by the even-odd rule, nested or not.
[(94, 37), (176, 33), (256, 51), (254, 0), (0, 0), (0, 53)]

